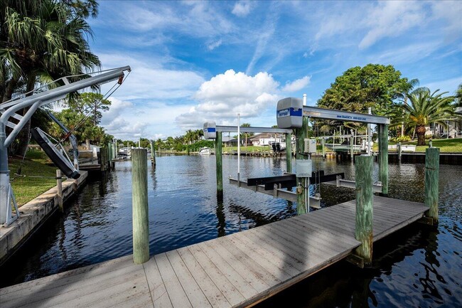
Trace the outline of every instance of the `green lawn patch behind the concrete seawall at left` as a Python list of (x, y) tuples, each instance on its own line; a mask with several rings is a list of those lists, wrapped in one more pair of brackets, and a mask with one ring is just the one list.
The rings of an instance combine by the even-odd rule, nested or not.
[(28, 151), (21, 166), (22, 176), (17, 176), (15, 174), (21, 165), (21, 159), (9, 159), (10, 181), (18, 206), (22, 206), (56, 186), (56, 180), (50, 178), (56, 176), (56, 167), (46, 165), (46, 161), (48, 161), (48, 157), (45, 153), (37, 150)]

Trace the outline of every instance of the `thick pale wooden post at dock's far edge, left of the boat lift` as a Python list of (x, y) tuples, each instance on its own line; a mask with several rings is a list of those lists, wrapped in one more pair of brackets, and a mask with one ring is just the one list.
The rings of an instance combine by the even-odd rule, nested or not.
[(131, 149), (131, 200), (133, 211), (133, 262), (149, 260), (148, 152)]

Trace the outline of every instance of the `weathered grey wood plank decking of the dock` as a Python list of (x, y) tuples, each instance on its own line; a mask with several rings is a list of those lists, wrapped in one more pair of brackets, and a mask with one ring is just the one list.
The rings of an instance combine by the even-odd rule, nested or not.
[[(424, 215), (374, 197), (374, 240)], [(161, 253), (131, 255), (0, 290), (0, 307), (246, 307), (349, 255), (355, 201)]]

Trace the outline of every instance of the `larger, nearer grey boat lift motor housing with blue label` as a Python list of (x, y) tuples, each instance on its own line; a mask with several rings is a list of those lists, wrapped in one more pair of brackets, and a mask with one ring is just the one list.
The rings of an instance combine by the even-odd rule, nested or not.
[(276, 119), (279, 128), (300, 128), (303, 124), (303, 101), (296, 97), (279, 100)]

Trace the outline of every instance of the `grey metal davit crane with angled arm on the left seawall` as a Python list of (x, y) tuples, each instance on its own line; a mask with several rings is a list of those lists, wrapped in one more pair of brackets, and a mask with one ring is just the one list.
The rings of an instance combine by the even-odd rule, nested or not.
[[(124, 78), (124, 72), (130, 72), (130, 70), (131, 68), (129, 66), (114, 68), (112, 70), (99, 72), (99, 75), (94, 75), (90, 78), (85, 78), (75, 82), (68, 79), (68, 77), (73, 76), (63, 77), (55, 80), (55, 82), (62, 81), (64, 85), (55, 87), (52, 90), (39, 92), (28, 97), (9, 100), (8, 102), (0, 104), (0, 225), (9, 225), (19, 217), (13, 188), (11, 187), (9, 180), (8, 147), (11, 142), (14, 141), (18, 133), (21, 132), (21, 129), (24, 127), (26, 122), (31, 120), (33, 113), (36, 112), (39, 107), (48, 105), (57, 100), (63, 100), (68, 93), (82, 90), (85, 87), (101, 85), (113, 80), (118, 80), (118, 83), (121, 84)], [(29, 110), (25, 115), (20, 115), (18, 112), (23, 110), (23, 108), (29, 108)], [(11, 122), (12, 119), (15, 119), (14, 122), (17, 123), (15, 124), (14, 122)], [(63, 127), (62, 124), (60, 124), (60, 126)], [(13, 129), (8, 136), (6, 136), (6, 127)], [(66, 129), (64, 130), (66, 131)], [(67, 133), (69, 133), (69, 131)], [(45, 142), (45, 144), (50, 144), (47, 138), (40, 134), (40, 132), (36, 132), (36, 137)], [(68, 159), (60, 152), (54, 150), (53, 152), (53, 159), (63, 162), (63, 164), (58, 164), (58, 167), (61, 169), (64, 168), (62, 166), (68, 166), (68, 169), (70, 169), (70, 161), (68, 161)], [(68, 169), (63, 171), (68, 172)], [(75, 173), (75, 171), (77, 170), (72, 171), (74, 174), (73, 177), (78, 176), (78, 172)], [(16, 209), (16, 216), (14, 217), (12, 217), (11, 206), (14, 206)]]

